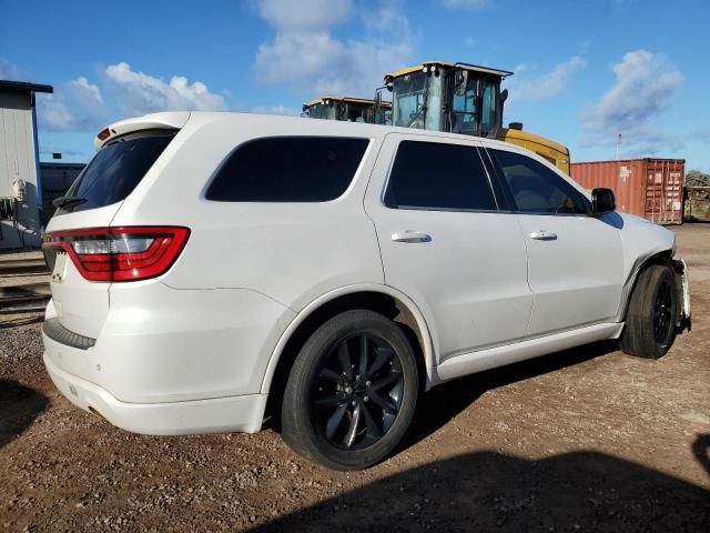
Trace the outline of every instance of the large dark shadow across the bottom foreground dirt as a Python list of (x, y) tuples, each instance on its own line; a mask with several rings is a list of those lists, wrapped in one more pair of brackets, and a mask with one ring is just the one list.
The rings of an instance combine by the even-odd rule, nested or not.
[(710, 531), (710, 492), (595, 452), (477, 452), (394, 474), (252, 531)]

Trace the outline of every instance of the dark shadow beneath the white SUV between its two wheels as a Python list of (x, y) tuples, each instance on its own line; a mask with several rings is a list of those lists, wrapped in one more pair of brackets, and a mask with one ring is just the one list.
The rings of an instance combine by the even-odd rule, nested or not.
[(436, 432), (478, 400), (486, 391), (566, 369), (615, 352), (618, 349), (617, 341), (597, 342), (467, 375), (435, 386), (432, 391), (420, 396), (412, 429), (395, 453), (416, 444)]

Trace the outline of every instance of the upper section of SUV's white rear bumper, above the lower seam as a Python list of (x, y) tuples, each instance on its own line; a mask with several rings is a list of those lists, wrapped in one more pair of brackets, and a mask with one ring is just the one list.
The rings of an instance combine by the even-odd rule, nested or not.
[(42, 336), (54, 366), (128, 404), (262, 392), (293, 311), (248, 290), (175, 290), (151, 280), (126, 285), (112, 288), (91, 338), (64, 324), (50, 301)]

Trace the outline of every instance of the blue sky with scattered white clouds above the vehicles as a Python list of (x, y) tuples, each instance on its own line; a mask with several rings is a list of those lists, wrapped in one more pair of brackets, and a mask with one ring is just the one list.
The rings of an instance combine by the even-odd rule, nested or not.
[(684, 158), (710, 172), (710, 1), (0, 0), (0, 79), (40, 95), (41, 158), (87, 161), (106, 123), (176, 109), (297, 114), (321, 93), (372, 98), (424, 60), (488, 64), (507, 121), (575, 161)]

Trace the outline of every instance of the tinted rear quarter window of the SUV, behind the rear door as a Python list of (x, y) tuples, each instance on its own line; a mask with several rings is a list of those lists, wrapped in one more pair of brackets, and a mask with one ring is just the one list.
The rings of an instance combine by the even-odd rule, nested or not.
[(325, 202), (345, 192), (367, 139), (276, 137), (234, 150), (206, 198), (221, 202)]

